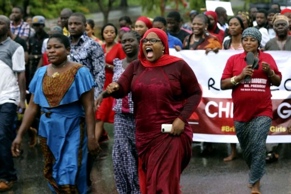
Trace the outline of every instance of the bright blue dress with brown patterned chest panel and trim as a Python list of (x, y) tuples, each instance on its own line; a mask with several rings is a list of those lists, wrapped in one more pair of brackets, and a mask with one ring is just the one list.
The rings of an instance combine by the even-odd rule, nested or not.
[(30, 83), (33, 102), (41, 108), (44, 176), (53, 193), (87, 192), (87, 135), (80, 97), (94, 86), (89, 70), (80, 64), (54, 78), (47, 75), (47, 66), (41, 67)]

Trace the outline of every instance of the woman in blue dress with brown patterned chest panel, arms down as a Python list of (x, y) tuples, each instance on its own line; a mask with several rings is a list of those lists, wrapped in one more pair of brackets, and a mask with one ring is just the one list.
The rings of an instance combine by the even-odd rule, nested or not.
[(51, 191), (85, 194), (87, 152), (97, 154), (100, 149), (94, 133), (95, 83), (85, 66), (67, 60), (69, 52), (65, 35), (49, 38), (51, 64), (39, 68), (30, 83), (32, 97), (11, 149), (19, 156), (22, 136), (40, 110), (44, 176)]

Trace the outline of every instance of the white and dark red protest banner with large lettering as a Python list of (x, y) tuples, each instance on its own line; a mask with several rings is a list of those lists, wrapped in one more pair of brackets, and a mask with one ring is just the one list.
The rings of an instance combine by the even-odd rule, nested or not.
[[(220, 79), (227, 59), (242, 51), (220, 50), (218, 54), (205, 50), (170, 49), (170, 54), (184, 59), (193, 69), (203, 95), (189, 119), (194, 141), (238, 143), (233, 125), (231, 90), (220, 89)], [(291, 119), (291, 51), (268, 51), (282, 73), (279, 87), (271, 86), (273, 122), (267, 143), (290, 143), (287, 124)]]

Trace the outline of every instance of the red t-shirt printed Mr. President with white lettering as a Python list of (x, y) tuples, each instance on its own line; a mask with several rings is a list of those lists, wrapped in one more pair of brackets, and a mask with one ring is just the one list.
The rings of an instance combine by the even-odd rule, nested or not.
[[(222, 74), (222, 80), (238, 76), (246, 66), (244, 58), (246, 53), (231, 56)], [(232, 89), (233, 120), (247, 122), (257, 116), (269, 116), (273, 118), (271, 101), (271, 82), (262, 70), (262, 62), (270, 64), (275, 74), (282, 78), (281, 72), (273, 57), (268, 53), (259, 51), (259, 69), (255, 69), (251, 81), (246, 83), (242, 80)]]

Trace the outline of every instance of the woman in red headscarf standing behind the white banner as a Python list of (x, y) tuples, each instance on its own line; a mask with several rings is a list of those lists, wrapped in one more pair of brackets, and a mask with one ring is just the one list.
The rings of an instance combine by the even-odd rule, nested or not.
[(217, 14), (213, 11), (207, 11), (205, 12), (205, 16), (209, 18), (209, 25), (207, 28), (208, 32), (216, 36), (219, 39), (220, 43), (222, 43), (225, 32), (217, 27)]

